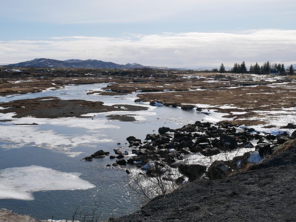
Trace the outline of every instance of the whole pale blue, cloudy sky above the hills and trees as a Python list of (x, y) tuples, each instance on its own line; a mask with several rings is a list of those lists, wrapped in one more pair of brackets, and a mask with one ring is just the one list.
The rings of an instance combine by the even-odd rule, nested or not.
[(295, 0), (0, 0), (0, 64), (296, 64)]

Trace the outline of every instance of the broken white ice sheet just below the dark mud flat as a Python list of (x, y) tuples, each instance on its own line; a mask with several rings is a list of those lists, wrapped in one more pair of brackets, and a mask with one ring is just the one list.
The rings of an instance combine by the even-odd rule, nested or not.
[[(106, 124), (106, 119), (81, 119), (81, 118), (59, 118), (59, 119), (41, 119), (33, 117), (24, 117), (21, 119), (11, 118), (13, 113), (0, 114), (0, 119), (12, 119), (14, 124), (31, 124), (39, 125), (12, 125), (12, 122), (1, 125), (0, 141), (12, 142), (15, 145), (2, 146), (4, 149), (20, 148), (22, 146), (35, 145), (46, 149), (55, 149), (58, 152), (65, 153), (69, 157), (80, 155), (81, 152), (71, 152), (70, 149), (81, 144), (97, 142), (114, 142), (113, 139), (104, 135), (103, 129), (120, 128), (119, 126)], [(89, 129), (86, 133), (77, 135), (59, 134), (54, 129), (41, 130), (40, 125), (52, 125), (61, 127), (80, 127)], [(98, 136), (99, 134), (99, 136)]]

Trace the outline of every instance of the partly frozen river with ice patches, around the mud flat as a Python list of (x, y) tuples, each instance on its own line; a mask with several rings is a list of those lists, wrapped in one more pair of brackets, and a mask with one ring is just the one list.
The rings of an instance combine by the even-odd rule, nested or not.
[[(135, 94), (103, 96), (87, 95), (88, 90), (100, 91), (104, 84), (67, 85), (59, 90), (0, 97), (0, 102), (19, 99), (56, 96), (61, 99), (103, 101), (106, 105), (131, 104), (147, 106), (147, 111), (109, 112), (92, 114), (91, 118), (37, 119), (12, 118), (0, 114), (0, 208), (37, 219), (70, 219), (79, 206), (99, 204), (101, 218), (111, 213), (115, 217), (139, 209), (139, 201), (126, 187), (125, 167), (106, 167), (114, 163), (108, 156), (92, 162), (80, 161), (97, 150), (121, 148), (126, 137), (144, 140), (157, 133), (159, 127), (180, 128), (197, 120), (219, 121), (219, 115), (206, 115), (180, 108), (155, 107), (134, 103)], [(1, 106), (1, 104), (0, 104)], [(110, 114), (135, 115), (137, 121), (107, 120)], [(37, 123), (38, 125), (15, 125)], [(121, 143), (121, 145), (117, 145)], [(127, 157), (128, 158), (128, 157)]]

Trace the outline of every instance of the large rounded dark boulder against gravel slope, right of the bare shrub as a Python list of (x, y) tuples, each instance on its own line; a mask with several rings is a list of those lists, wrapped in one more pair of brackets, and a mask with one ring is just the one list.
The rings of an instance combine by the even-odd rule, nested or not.
[(231, 172), (228, 165), (226, 161), (215, 160), (208, 168), (207, 176), (213, 180), (226, 177)]

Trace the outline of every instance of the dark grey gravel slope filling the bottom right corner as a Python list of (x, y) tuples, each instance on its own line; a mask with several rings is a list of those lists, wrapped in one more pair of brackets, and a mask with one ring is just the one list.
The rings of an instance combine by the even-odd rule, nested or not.
[(194, 181), (116, 221), (296, 221), (296, 149), (251, 169)]

